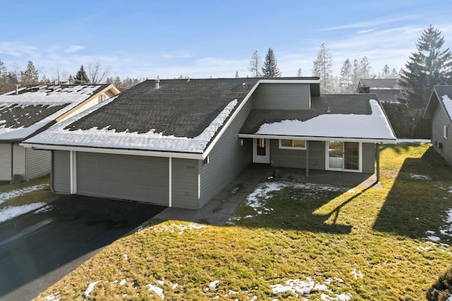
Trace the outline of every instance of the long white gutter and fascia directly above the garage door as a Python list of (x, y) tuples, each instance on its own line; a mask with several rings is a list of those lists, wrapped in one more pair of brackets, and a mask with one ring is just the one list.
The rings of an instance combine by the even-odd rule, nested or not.
[(41, 151), (80, 151), (85, 153), (109, 153), (114, 155), (143, 155), (148, 157), (204, 160), (201, 153), (176, 153), (165, 151), (143, 151), (123, 148), (90, 148), (85, 146), (57, 146), (52, 144), (20, 143), (20, 146)]

